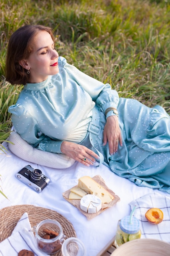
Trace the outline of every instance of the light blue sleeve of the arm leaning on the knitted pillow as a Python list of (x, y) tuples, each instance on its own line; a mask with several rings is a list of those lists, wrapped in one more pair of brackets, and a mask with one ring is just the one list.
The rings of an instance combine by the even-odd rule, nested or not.
[(60, 150), (62, 141), (52, 140), (41, 132), (37, 120), (31, 112), (20, 104), (12, 105), (8, 110), (12, 116), (13, 127), (22, 139), (33, 147), (52, 153), (62, 153)]

